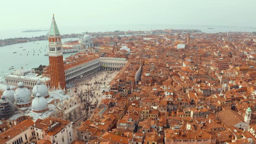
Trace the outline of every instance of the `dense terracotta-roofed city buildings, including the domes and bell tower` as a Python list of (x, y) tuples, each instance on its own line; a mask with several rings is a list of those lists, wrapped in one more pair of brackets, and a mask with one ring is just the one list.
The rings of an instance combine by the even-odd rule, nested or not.
[[(50, 65), (33, 84), (32, 96), (25, 88), (29, 85), (17, 81), (19, 88), (14, 92), (8, 87), (1, 97), (0, 141), (254, 144), (255, 39), (253, 33), (172, 30), (161, 35), (95, 37), (96, 46), (63, 61), (53, 17)], [(72, 125), (84, 113), (80, 98), (66, 89), (101, 69), (119, 72), (109, 85), (102, 85), (101, 101), (73, 137)], [(50, 82), (43, 85), (41, 79)]]

